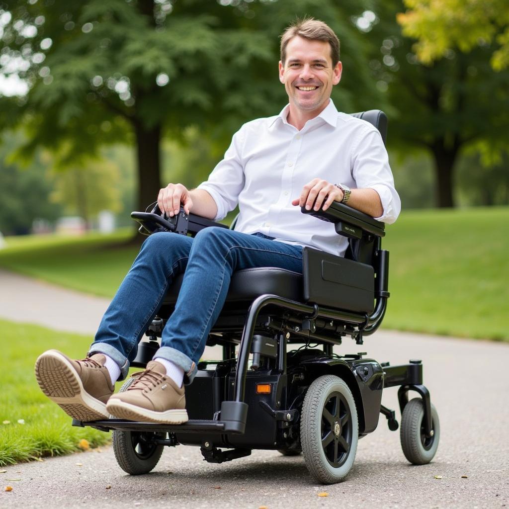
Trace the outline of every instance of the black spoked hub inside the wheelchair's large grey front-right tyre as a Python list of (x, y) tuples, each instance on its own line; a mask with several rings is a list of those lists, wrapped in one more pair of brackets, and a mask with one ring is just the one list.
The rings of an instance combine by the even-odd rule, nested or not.
[(352, 414), (343, 394), (332, 392), (322, 411), (322, 447), (327, 461), (341, 467), (352, 445)]

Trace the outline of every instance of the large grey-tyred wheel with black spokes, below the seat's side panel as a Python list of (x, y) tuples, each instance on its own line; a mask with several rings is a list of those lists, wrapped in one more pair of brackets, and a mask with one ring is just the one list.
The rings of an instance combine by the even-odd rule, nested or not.
[(339, 377), (317, 378), (302, 405), (300, 440), (309, 473), (334, 484), (350, 472), (359, 439), (357, 408), (348, 385)]

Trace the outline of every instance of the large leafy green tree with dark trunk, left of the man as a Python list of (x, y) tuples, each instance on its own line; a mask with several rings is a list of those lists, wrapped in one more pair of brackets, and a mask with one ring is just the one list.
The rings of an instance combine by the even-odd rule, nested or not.
[(224, 149), (243, 121), (285, 104), (278, 35), (296, 15), (313, 12), (345, 36), (352, 65), (336, 97), (347, 108), (373, 104), (350, 21), (362, 10), (332, 0), (0, 0), (0, 74), (29, 86), (0, 99), (0, 129), (23, 123), (30, 143), (20, 154), (42, 145), (61, 166), (134, 143), (143, 210), (161, 186), (163, 136), (181, 139), (194, 125)]

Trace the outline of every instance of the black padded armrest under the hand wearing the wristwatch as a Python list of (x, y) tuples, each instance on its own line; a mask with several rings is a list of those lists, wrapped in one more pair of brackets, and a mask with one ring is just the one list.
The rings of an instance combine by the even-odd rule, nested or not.
[(362, 232), (371, 233), (377, 237), (385, 236), (385, 223), (377, 221), (373, 217), (364, 214), (364, 212), (352, 209), (352, 207), (343, 203), (332, 202), (326, 211), (322, 209), (306, 210), (305, 207), (301, 207), (300, 211), (303, 214), (318, 217), (323, 221), (333, 222), (336, 233), (346, 237), (360, 239)]

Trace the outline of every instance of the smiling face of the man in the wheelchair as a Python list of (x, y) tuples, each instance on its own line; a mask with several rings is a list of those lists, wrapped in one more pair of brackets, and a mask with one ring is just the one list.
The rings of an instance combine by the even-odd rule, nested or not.
[(279, 80), (301, 111), (319, 112), (327, 105), (332, 86), (340, 82), (341, 62), (332, 66), (330, 44), (295, 36), (286, 48), (285, 65), (279, 62)]

